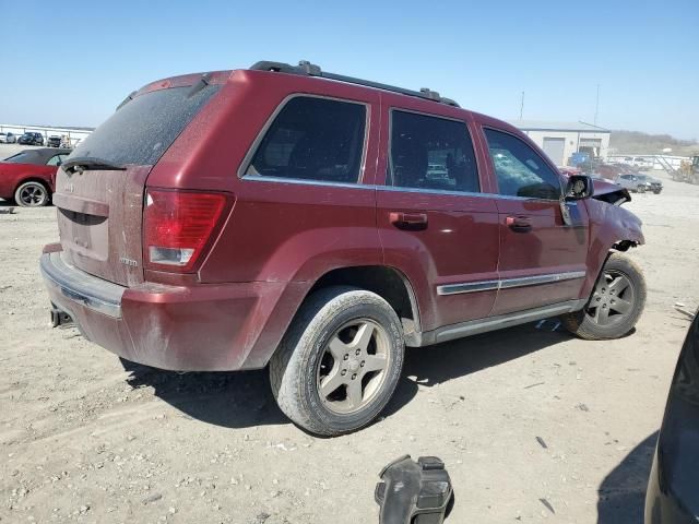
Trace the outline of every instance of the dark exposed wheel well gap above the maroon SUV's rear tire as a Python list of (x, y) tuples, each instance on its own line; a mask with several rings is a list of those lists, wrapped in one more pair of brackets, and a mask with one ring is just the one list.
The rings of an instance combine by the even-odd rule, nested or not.
[(398, 313), (405, 330), (406, 344), (411, 333), (419, 332), (419, 311), (417, 300), (407, 277), (393, 267), (382, 265), (363, 265), (341, 267), (321, 276), (310, 293), (328, 286), (354, 286), (376, 293)]

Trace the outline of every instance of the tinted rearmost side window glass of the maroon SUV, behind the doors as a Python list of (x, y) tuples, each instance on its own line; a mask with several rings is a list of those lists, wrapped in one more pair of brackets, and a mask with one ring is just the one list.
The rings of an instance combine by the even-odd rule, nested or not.
[(366, 120), (363, 104), (294, 97), (274, 118), (245, 174), (355, 183)]

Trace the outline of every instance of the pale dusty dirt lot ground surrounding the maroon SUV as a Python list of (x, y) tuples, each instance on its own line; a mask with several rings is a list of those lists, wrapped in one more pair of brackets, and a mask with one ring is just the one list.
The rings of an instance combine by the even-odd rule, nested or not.
[(50, 329), (37, 258), (56, 211), (0, 214), (0, 521), (377, 522), (377, 473), (411, 453), (447, 463), (448, 522), (640, 522), (688, 326), (673, 305), (699, 302), (699, 187), (665, 186), (629, 204), (648, 239), (636, 333), (548, 321), (410, 350), (384, 418), (336, 439), (286, 421), (263, 371), (125, 370)]

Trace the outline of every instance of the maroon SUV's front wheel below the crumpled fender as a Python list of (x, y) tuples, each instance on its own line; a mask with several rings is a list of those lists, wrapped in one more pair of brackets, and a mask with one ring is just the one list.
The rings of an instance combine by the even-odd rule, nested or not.
[(645, 306), (645, 279), (629, 258), (612, 253), (590, 300), (581, 311), (560, 318), (564, 326), (588, 341), (606, 341), (628, 334)]

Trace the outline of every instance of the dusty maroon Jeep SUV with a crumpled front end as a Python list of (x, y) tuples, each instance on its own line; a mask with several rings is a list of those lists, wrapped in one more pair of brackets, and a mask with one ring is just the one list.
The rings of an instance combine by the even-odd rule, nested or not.
[(645, 299), (618, 187), (561, 178), (435, 92), (308, 62), (149, 84), (56, 184), (56, 322), (157, 368), (269, 366), (282, 410), (322, 434), (381, 412), (404, 346), (553, 315), (614, 338)]

